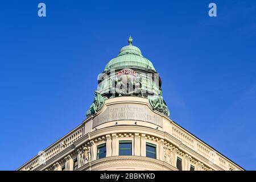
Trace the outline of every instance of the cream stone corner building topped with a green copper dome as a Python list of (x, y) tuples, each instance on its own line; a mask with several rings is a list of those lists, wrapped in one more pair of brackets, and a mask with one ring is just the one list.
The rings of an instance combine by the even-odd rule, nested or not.
[(18, 170), (244, 170), (170, 119), (158, 73), (128, 42), (98, 77), (85, 121)]

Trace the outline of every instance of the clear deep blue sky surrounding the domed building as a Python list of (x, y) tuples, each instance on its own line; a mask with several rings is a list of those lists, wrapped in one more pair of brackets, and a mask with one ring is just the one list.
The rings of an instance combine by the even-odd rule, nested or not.
[(0, 170), (18, 168), (85, 119), (97, 75), (129, 35), (160, 73), (171, 118), (256, 169), (254, 0), (9, 0), (0, 6)]

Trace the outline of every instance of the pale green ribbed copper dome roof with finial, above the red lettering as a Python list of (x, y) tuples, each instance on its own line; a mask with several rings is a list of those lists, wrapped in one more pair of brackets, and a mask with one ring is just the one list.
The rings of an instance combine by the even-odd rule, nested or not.
[(110, 60), (105, 67), (105, 72), (110, 69), (123, 69), (123, 68), (138, 68), (147, 69), (148, 71), (155, 71), (155, 68), (150, 60), (142, 56), (141, 50), (132, 45), (133, 39), (131, 36), (128, 39), (128, 46), (122, 47), (119, 54), (114, 59)]

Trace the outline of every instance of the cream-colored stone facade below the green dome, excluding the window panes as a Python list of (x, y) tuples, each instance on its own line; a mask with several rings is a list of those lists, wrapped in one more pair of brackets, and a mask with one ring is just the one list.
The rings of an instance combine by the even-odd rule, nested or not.
[[(132, 141), (132, 155), (119, 156), (119, 140)], [(146, 142), (156, 145), (156, 159), (146, 157)], [(97, 159), (97, 146), (106, 143), (106, 158)], [(65, 135), (18, 170), (243, 170), (188, 133), (170, 118), (152, 110), (146, 98), (106, 100), (93, 117)]]

